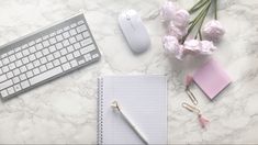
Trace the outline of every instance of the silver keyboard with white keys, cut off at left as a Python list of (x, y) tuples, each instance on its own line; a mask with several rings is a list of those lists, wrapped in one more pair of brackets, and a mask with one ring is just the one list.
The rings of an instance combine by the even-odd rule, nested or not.
[(92, 64), (100, 52), (83, 13), (0, 47), (0, 94), (8, 99)]

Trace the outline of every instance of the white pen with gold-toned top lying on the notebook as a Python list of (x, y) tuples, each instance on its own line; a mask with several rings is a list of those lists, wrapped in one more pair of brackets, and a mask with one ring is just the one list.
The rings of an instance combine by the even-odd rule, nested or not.
[(120, 112), (120, 114), (123, 116), (123, 119), (125, 120), (125, 122), (131, 126), (131, 129), (133, 129), (133, 131), (139, 136), (139, 138), (144, 142), (144, 144), (148, 145), (147, 140), (144, 137), (143, 133), (139, 132), (139, 130), (128, 120), (128, 118), (123, 113), (123, 111), (121, 110), (117, 101), (113, 101), (111, 107), (115, 110), (117, 110), (117, 112)]

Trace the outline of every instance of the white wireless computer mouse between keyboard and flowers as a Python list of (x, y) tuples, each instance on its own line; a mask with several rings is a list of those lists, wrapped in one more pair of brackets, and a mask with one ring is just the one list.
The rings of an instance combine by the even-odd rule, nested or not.
[(119, 15), (119, 24), (134, 53), (143, 53), (148, 49), (150, 38), (141, 16), (135, 10), (122, 12)]

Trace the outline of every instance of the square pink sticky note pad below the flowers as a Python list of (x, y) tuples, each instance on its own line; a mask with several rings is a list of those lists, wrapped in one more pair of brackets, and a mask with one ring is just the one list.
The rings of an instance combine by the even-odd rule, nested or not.
[(194, 82), (212, 100), (231, 83), (226, 71), (214, 59), (209, 60), (193, 74)]

